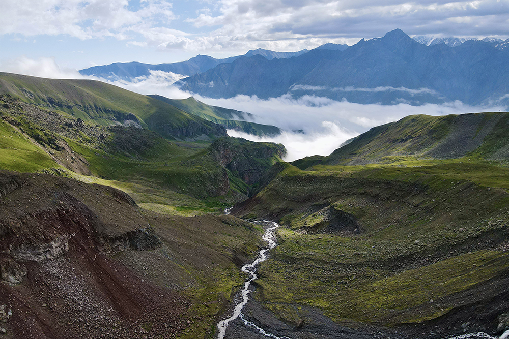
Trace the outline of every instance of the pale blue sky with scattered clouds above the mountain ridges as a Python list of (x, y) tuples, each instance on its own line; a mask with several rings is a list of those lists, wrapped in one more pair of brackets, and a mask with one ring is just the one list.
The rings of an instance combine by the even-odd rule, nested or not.
[(249, 49), (409, 35), (509, 35), (509, 0), (2, 0), (0, 70), (50, 58), (61, 69), (169, 63)]

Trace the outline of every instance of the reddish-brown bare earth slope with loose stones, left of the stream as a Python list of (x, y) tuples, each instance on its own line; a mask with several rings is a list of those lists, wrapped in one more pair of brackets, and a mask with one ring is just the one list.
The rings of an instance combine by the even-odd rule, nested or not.
[(12, 313), (0, 330), (7, 338), (174, 337), (195, 322), (193, 301), (178, 291), (193, 277), (166, 258), (204, 274), (244, 262), (246, 249), (210, 236), (242, 238), (247, 230), (234, 219), (168, 218), (109, 187), (0, 171), (0, 307)]

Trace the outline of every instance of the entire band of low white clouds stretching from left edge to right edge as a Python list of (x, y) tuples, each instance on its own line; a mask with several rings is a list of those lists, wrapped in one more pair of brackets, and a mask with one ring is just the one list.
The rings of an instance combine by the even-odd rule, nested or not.
[[(0, 64), (0, 69), (4, 72), (48, 78), (86, 78), (76, 70), (59, 67), (54, 58), (33, 60), (20, 57)], [(132, 82), (106, 82), (140, 94), (158, 94), (172, 99), (184, 99), (192, 94), (172, 85), (181, 78), (183, 76), (179, 74), (153, 71), (150, 76), (140, 77)], [(469, 106), (460, 101), (421, 106), (412, 106), (405, 103), (397, 105), (363, 105), (309, 95), (295, 98), (291, 93), (268, 100), (244, 95), (228, 99), (211, 99), (199, 95), (194, 95), (194, 97), (209, 105), (252, 113), (253, 116), (250, 121), (273, 125), (282, 129), (280, 135), (273, 137), (258, 137), (234, 130), (228, 131), (228, 134), (252, 141), (282, 143), (288, 150), (285, 158), (287, 161), (306, 156), (329, 155), (346, 140), (366, 132), (372, 127), (397, 121), (407, 115), (427, 114), (437, 116), (473, 112), (498, 112), (507, 109), (499, 105)]]

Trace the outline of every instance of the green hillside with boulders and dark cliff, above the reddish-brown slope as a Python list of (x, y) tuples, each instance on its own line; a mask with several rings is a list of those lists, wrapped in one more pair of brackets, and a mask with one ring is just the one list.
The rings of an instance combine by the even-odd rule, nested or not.
[(0, 115), (1, 168), (76, 177), (70, 170), (129, 183), (117, 187), (172, 214), (222, 210), (245, 198), (285, 152), (282, 145), (234, 138), (171, 142), (147, 129), (92, 125), (10, 96), (0, 97)]

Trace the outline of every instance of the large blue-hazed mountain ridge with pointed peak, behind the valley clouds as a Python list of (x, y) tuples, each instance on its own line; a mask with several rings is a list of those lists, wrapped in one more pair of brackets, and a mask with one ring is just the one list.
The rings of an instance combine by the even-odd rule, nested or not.
[(289, 59), (239, 57), (177, 83), (210, 98), (288, 93), (362, 104), (509, 103), (509, 53), (493, 43), (426, 46), (401, 29), (341, 50), (314, 49)]

